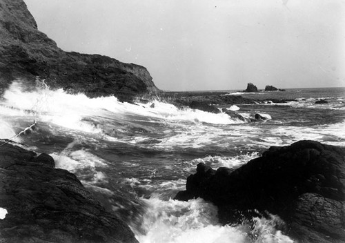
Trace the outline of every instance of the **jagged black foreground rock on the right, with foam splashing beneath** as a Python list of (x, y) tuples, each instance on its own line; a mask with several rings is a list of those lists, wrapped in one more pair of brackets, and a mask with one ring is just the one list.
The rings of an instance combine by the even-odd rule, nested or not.
[(270, 147), (236, 170), (200, 163), (175, 198), (215, 203), (224, 224), (257, 209), (282, 217), (284, 233), (299, 242), (345, 242), (344, 159), (344, 148), (300, 141)]

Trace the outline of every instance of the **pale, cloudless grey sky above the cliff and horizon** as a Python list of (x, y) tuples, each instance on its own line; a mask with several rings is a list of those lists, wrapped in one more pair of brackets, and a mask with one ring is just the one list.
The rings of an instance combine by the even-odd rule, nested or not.
[(345, 86), (345, 0), (24, 0), (59, 48), (145, 66), (161, 90)]

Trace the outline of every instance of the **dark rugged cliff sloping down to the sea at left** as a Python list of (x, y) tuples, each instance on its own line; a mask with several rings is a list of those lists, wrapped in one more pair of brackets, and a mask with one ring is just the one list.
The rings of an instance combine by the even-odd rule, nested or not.
[(115, 95), (128, 100), (157, 93), (146, 68), (101, 55), (65, 52), (37, 30), (22, 0), (0, 0), (0, 88), (14, 79), (46, 79), (52, 88), (90, 97)]

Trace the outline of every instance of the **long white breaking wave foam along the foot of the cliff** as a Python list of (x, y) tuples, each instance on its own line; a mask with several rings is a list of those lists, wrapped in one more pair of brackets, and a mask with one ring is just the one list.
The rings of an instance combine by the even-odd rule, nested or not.
[[(43, 88), (42, 88), (43, 87)], [(116, 117), (118, 119), (136, 116), (150, 122), (152, 119), (159, 122), (189, 122), (192, 124), (238, 124), (243, 123), (231, 119), (224, 113), (214, 114), (190, 108), (179, 109), (172, 104), (153, 101), (148, 104), (121, 103), (116, 97), (89, 98), (83, 94), (71, 95), (62, 89), (50, 90), (48, 86), (39, 85), (36, 89), (26, 91), (19, 81), (13, 82), (3, 95), (0, 109), (8, 115), (28, 115), (30, 111), (35, 119), (41, 122), (56, 124), (71, 130), (86, 133), (103, 133), (98, 124), (84, 119), (85, 117)], [(129, 119), (131, 119), (130, 117)]]

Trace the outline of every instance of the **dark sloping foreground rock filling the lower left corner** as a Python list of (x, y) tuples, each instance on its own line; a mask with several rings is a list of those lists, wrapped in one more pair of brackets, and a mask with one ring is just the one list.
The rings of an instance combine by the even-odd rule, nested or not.
[(54, 167), (49, 155), (0, 146), (0, 242), (137, 242), (75, 175)]

